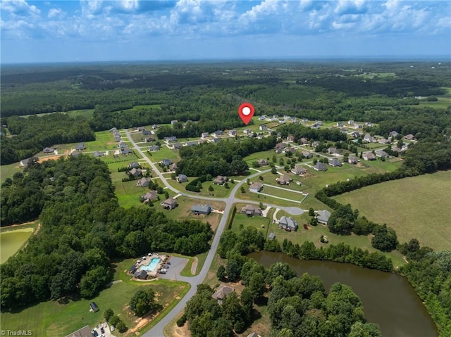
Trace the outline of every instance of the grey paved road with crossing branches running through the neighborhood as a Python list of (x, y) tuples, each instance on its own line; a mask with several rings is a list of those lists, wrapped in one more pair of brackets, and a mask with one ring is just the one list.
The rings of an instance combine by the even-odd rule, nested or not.
[[(197, 285), (202, 284), (202, 282), (204, 281), (206, 274), (208, 273), (208, 271), (210, 269), (211, 262), (213, 262), (214, 256), (216, 255), (216, 248), (218, 248), (219, 239), (221, 238), (221, 234), (223, 233), (224, 228), (226, 227), (226, 222), (228, 219), (229, 212), (232, 209), (232, 205), (234, 203), (252, 203), (252, 204), (258, 205), (259, 203), (257, 201), (247, 201), (247, 200), (235, 198), (235, 193), (237, 193), (238, 189), (240, 189), (240, 186), (246, 182), (246, 180), (244, 180), (244, 179), (241, 182), (237, 182), (237, 184), (235, 184), (235, 186), (230, 191), (230, 194), (227, 198), (211, 198), (211, 197), (206, 197), (206, 196), (194, 196), (189, 193), (184, 193), (182, 191), (178, 191), (177, 189), (175, 189), (173, 186), (171, 186), (166, 181), (166, 178), (163, 177), (163, 174), (158, 170), (156, 165), (154, 163), (152, 163), (152, 160), (150, 160), (149, 157), (147, 157), (147, 155), (144, 153), (144, 151), (142, 151), (142, 149), (139, 146), (137, 146), (136, 142), (130, 137), (130, 132), (127, 130), (125, 132), (125, 134), (127, 135), (128, 139), (132, 143), (132, 147), (135, 148), (135, 150), (137, 152), (139, 152), (140, 155), (142, 155), (142, 158), (144, 158), (144, 160), (146, 160), (147, 163), (149, 163), (149, 165), (152, 167), (154, 172), (156, 172), (156, 174), (158, 174), (159, 178), (161, 179), (163, 184), (165, 184), (165, 186), (168, 189), (171, 189), (171, 191), (174, 191), (175, 193), (178, 193), (183, 196), (190, 197), (190, 198), (206, 199), (206, 200), (211, 200), (211, 201), (223, 201), (226, 203), (226, 207), (224, 208), (223, 216), (221, 217), (221, 221), (219, 222), (218, 229), (216, 229), (216, 233), (214, 234), (213, 242), (211, 243), (211, 248), (209, 250), (209, 254), (206, 257), (206, 260), (204, 262), (202, 270), (199, 272), (199, 274), (197, 276), (190, 276), (190, 277), (178, 276), (178, 281), (184, 281), (191, 285), (190, 290), (180, 300), (180, 302), (177, 305), (175, 305), (175, 307), (173, 308), (173, 310), (171, 310), (171, 312), (168, 312), (168, 314), (166, 314), (166, 316), (163, 317), (163, 319), (161, 319), (160, 322), (158, 322), (152, 329), (150, 329), (146, 333), (143, 333), (143, 335), (142, 335), (144, 337), (163, 337), (164, 336), (164, 334), (163, 334), (164, 327), (166, 325), (168, 325), (169, 322), (171, 322), (171, 320), (174, 319), (174, 317), (176, 317), (177, 314), (185, 308), (187, 301), (190, 300), (190, 298), (192, 298), (192, 296), (196, 293)], [(271, 171), (271, 169), (264, 170), (261, 172), (256, 172), (254, 174), (249, 175), (248, 178), (252, 179), (254, 177), (258, 177), (259, 175), (261, 175), (263, 173), (270, 172), (270, 171)], [(303, 210), (300, 208), (280, 207), (280, 206), (276, 206), (276, 205), (268, 205), (268, 206), (286, 210), (286, 211), (290, 212), (291, 214), (299, 214), (299, 213), (302, 214), (302, 212), (303, 212)]]

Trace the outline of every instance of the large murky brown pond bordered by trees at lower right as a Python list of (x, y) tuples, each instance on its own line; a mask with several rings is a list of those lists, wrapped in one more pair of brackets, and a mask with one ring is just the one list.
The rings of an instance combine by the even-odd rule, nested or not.
[(366, 319), (381, 326), (384, 337), (437, 337), (435, 323), (407, 279), (356, 265), (321, 260), (297, 260), (283, 253), (249, 254), (266, 268), (276, 262), (291, 265), (298, 275), (307, 272), (323, 279), (326, 291), (335, 282), (347, 284), (359, 295)]

